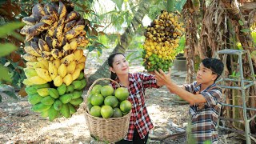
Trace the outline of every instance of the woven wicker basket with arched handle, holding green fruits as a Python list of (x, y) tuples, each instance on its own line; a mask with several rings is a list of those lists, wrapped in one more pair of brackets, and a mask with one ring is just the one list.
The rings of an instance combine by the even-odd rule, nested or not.
[[(110, 78), (99, 78), (89, 88), (87, 96), (90, 94), (93, 86), (96, 82), (101, 80), (110, 80)], [(113, 81), (115, 82), (115, 81)], [(118, 84), (118, 82), (116, 82)], [(118, 85), (119, 87), (119, 85)], [(89, 114), (89, 110), (86, 106), (86, 97), (84, 98), (84, 107), (86, 123), (90, 130), (90, 135), (102, 142), (118, 142), (124, 138), (128, 132), (128, 126), (130, 123), (130, 114), (121, 118), (97, 118)]]

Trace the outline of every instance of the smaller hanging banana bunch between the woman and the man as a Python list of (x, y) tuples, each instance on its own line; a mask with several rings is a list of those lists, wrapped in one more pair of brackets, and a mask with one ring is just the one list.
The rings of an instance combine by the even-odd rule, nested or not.
[(168, 71), (175, 58), (175, 49), (179, 46), (180, 37), (185, 29), (179, 22), (181, 14), (162, 11), (144, 33), (146, 39), (143, 44), (143, 66), (148, 71), (162, 69)]

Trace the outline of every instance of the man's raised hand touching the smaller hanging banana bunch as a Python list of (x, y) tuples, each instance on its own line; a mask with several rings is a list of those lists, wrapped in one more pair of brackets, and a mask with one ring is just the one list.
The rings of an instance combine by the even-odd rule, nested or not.
[(170, 85), (171, 79), (170, 79), (170, 68), (168, 73), (166, 74), (161, 69), (159, 69), (159, 73), (157, 70), (154, 70), (155, 78), (158, 80), (158, 82), (161, 82), (163, 85)]

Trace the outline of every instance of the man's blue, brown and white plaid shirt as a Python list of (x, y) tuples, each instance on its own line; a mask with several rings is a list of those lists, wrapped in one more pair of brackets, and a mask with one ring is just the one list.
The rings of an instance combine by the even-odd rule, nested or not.
[[(194, 94), (201, 89), (201, 85), (197, 85), (197, 82), (183, 86), (187, 91)], [(198, 143), (216, 142), (218, 141), (218, 114), (222, 107), (220, 104), (222, 102), (222, 89), (213, 84), (199, 94), (206, 98), (206, 103), (201, 104), (202, 106), (190, 106), (192, 134)]]

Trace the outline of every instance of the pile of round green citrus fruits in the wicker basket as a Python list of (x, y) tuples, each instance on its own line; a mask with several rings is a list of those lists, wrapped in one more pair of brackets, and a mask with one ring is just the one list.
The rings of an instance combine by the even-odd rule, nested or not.
[(129, 92), (124, 87), (114, 90), (112, 86), (95, 85), (86, 99), (86, 106), (94, 117), (119, 118), (132, 108), (128, 97)]

